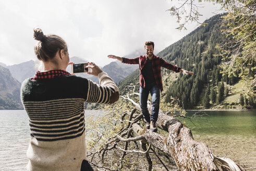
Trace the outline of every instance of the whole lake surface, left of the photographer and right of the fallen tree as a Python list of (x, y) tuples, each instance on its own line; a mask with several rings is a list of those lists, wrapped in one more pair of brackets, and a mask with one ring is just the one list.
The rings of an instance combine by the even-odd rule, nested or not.
[[(86, 114), (90, 111), (86, 111)], [(189, 111), (192, 116), (195, 111)], [(256, 170), (256, 112), (205, 111), (186, 125), (194, 139), (209, 145), (215, 155), (229, 157), (248, 170)], [(197, 113), (199, 115), (200, 113)], [(203, 114), (201, 112), (201, 114)], [(25, 170), (30, 130), (26, 111), (0, 110), (0, 170)]]

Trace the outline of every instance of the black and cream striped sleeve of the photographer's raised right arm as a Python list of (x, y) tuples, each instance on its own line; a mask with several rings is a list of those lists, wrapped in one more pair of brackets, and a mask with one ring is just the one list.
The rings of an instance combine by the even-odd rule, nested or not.
[(113, 104), (119, 99), (119, 89), (114, 81), (105, 73), (98, 75), (100, 84), (88, 80), (86, 102)]

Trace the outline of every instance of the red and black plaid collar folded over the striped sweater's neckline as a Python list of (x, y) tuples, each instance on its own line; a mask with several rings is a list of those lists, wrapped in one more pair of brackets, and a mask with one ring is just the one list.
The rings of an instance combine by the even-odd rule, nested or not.
[(55, 77), (60, 77), (60, 76), (70, 76), (70, 73), (65, 71), (65, 70), (50, 70), (50, 71), (45, 71), (45, 72), (40, 72), (37, 71), (35, 76), (31, 78), (31, 80), (42, 80), (42, 79), (51, 79)]

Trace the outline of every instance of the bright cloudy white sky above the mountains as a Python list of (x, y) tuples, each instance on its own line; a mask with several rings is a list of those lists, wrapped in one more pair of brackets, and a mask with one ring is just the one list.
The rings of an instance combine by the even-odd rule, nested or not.
[[(14, 65), (36, 60), (33, 28), (57, 34), (68, 45), (69, 56), (99, 66), (114, 61), (107, 55), (126, 56), (155, 43), (155, 53), (196, 29), (196, 22), (179, 31), (167, 11), (180, 2), (170, 0), (0, 0), (0, 62)], [(204, 3), (200, 22), (218, 13)]]

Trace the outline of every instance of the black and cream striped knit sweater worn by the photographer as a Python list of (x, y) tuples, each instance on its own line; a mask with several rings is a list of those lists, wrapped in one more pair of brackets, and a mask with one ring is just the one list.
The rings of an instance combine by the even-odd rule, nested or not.
[(80, 170), (87, 160), (84, 102), (111, 104), (119, 90), (105, 72), (100, 84), (76, 76), (23, 81), (21, 101), (31, 130), (27, 170)]

